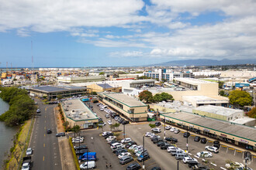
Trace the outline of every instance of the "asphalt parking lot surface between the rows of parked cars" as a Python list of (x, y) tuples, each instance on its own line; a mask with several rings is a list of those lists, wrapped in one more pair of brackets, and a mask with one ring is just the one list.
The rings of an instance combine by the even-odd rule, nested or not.
[[(99, 107), (96, 106), (96, 104), (90, 104), (92, 105), (92, 110), (99, 117), (102, 117), (102, 121), (107, 122), (110, 120), (110, 118), (105, 117), (105, 111), (101, 111)], [(115, 124), (116, 121), (112, 119), (112, 123)], [(132, 138), (132, 140), (136, 141), (137, 144), (142, 145), (143, 135), (147, 131), (151, 130), (148, 124), (149, 122), (126, 124), (125, 127), (123, 126), (123, 124), (120, 124), (119, 129), (123, 130), (123, 128), (125, 128), (126, 137)], [(151, 124), (154, 124), (154, 122), (151, 122)], [(161, 133), (159, 135), (162, 138), (164, 138), (163, 123), (158, 128), (161, 128)], [(112, 153), (109, 144), (107, 144), (106, 142), (106, 139), (100, 136), (102, 131), (110, 131), (109, 124), (106, 124), (106, 126), (104, 126), (103, 129), (99, 128), (98, 130), (82, 131), (82, 135), (86, 136), (85, 144), (88, 145), (89, 150), (97, 152), (97, 156), (99, 158), (99, 160), (96, 162), (97, 168), (106, 168), (106, 163), (111, 163), (113, 169), (126, 169), (127, 165), (119, 165), (119, 159), (115, 154)], [(185, 131), (182, 130), (179, 134), (174, 134), (173, 132), (166, 130), (166, 137), (177, 138), (177, 147), (186, 150), (186, 138), (183, 138), (184, 132)], [(203, 159), (197, 158), (195, 155), (199, 151), (206, 151), (205, 147), (207, 145), (213, 145), (213, 141), (207, 141), (206, 144), (202, 144), (200, 142), (194, 141), (194, 138), (195, 134), (191, 133), (191, 135), (188, 138), (189, 155), (192, 158), (196, 158), (200, 163), (207, 165), (209, 168), (225, 169), (225, 164), (227, 160), (243, 163), (243, 152), (235, 150), (234, 148), (228, 148), (225, 145), (220, 145), (220, 153), (213, 153), (213, 158), (205, 158), (207, 163), (203, 163)], [(168, 151), (161, 150), (159, 147), (154, 145), (149, 138), (145, 138), (145, 148), (147, 148), (147, 151), (149, 152), (150, 155), (150, 159), (145, 161), (146, 169), (153, 168), (154, 166), (160, 166), (161, 169), (177, 168), (178, 161), (175, 159), (175, 157), (171, 156), (170, 153), (168, 153)], [(130, 163), (128, 163), (128, 165)], [(140, 165), (142, 166), (141, 162), (138, 163), (140, 163)], [(256, 165), (254, 162), (251, 162), (251, 165), (248, 166), (253, 168)], [(179, 169), (189, 169), (189, 167), (188, 165), (185, 165), (183, 162), (179, 162)]]

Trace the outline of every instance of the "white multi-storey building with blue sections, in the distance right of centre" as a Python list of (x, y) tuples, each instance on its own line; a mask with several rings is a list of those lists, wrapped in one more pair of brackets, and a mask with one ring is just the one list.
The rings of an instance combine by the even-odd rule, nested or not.
[(172, 81), (174, 78), (192, 77), (193, 75), (190, 72), (174, 72), (172, 70), (156, 69), (153, 71), (144, 72), (144, 76), (150, 77), (152, 79), (158, 79), (160, 81), (163, 79)]

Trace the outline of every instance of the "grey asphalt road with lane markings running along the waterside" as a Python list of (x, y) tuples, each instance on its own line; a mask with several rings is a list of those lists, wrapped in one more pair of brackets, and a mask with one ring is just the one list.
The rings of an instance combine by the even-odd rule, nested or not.
[[(36, 99), (35, 99), (36, 100)], [(42, 104), (36, 100), (41, 113), (36, 114), (29, 148), (33, 148), (33, 169), (61, 169), (61, 157), (59, 145), (55, 134), (56, 123), (54, 117), (54, 105)], [(47, 128), (52, 134), (47, 134)]]

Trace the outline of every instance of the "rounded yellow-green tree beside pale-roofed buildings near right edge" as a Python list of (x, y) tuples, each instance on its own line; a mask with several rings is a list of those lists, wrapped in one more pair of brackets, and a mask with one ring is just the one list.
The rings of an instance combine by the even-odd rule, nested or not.
[(229, 99), (230, 104), (240, 107), (251, 106), (252, 103), (252, 97), (246, 91), (233, 90), (230, 92)]

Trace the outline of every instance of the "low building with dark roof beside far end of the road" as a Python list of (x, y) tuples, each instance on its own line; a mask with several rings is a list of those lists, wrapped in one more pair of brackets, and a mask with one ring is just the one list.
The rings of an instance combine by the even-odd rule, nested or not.
[(30, 88), (30, 96), (33, 97), (47, 97), (48, 100), (61, 97), (72, 97), (78, 95), (85, 95), (88, 93), (88, 88), (85, 87), (71, 87), (71, 86), (41, 86)]

